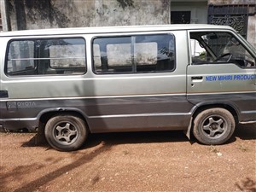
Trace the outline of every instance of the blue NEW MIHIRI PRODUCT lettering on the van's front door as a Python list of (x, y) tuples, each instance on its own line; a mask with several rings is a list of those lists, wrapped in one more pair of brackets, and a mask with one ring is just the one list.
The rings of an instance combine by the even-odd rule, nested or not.
[(206, 76), (206, 81), (242, 81), (242, 80), (254, 80), (256, 74), (236, 74), (236, 75), (218, 75), (218, 76)]

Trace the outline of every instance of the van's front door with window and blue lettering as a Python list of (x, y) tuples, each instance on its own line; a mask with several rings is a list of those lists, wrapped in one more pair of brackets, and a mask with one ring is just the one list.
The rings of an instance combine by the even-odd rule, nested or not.
[(253, 49), (245, 46), (244, 40), (233, 32), (191, 31), (189, 37), (189, 102), (198, 107), (226, 108), (240, 122), (256, 120)]

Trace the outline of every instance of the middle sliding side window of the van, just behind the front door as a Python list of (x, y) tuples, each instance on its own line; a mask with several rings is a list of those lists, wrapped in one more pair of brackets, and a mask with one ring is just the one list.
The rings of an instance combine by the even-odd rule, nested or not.
[(173, 71), (172, 34), (104, 37), (93, 40), (95, 73), (154, 73)]

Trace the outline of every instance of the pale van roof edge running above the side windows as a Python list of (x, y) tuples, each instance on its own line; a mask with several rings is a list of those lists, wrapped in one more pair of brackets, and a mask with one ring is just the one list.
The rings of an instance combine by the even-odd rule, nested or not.
[(51, 28), (38, 30), (24, 30), (13, 32), (0, 32), (0, 37), (19, 36), (40, 36), (40, 35), (65, 35), (65, 34), (90, 34), (104, 32), (154, 32), (169, 30), (196, 30), (196, 29), (228, 29), (234, 30), (230, 26), (216, 26), (207, 24), (184, 24), (184, 25), (149, 25), (149, 26), (94, 26), (76, 28)]

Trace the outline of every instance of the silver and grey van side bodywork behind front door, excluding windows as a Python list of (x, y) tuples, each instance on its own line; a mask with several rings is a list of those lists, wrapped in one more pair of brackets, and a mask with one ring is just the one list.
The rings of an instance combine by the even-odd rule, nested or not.
[(189, 56), (183, 48), (188, 44), (187, 33), (172, 34), (178, 45), (173, 72), (92, 73), (87, 37), (84, 75), (10, 78), (3, 74), (3, 89), (8, 90), (9, 97), (1, 100), (1, 123), (10, 130), (24, 126), (35, 129), (44, 113), (76, 111), (87, 120), (91, 132), (187, 129), (194, 107), (186, 96)]

